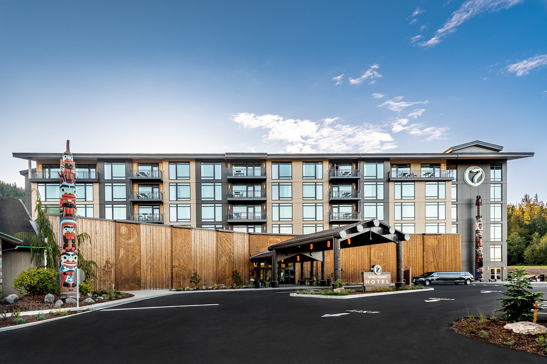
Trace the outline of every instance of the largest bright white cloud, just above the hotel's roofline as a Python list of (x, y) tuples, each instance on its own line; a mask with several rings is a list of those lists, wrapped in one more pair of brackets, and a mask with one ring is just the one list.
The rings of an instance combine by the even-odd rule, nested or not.
[(248, 129), (265, 129), (265, 142), (281, 142), (289, 153), (312, 152), (382, 152), (395, 148), (391, 134), (371, 124), (348, 125), (340, 119), (318, 122), (285, 119), (278, 115), (255, 115), (242, 112), (233, 121)]

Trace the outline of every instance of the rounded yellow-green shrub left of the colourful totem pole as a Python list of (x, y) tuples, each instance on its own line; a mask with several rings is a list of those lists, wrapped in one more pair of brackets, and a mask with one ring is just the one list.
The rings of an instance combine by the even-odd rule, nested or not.
[(15, 278), (13, 287), (21, 294), (59, 294), (59, 272), (53, 269), (28, 268)]

